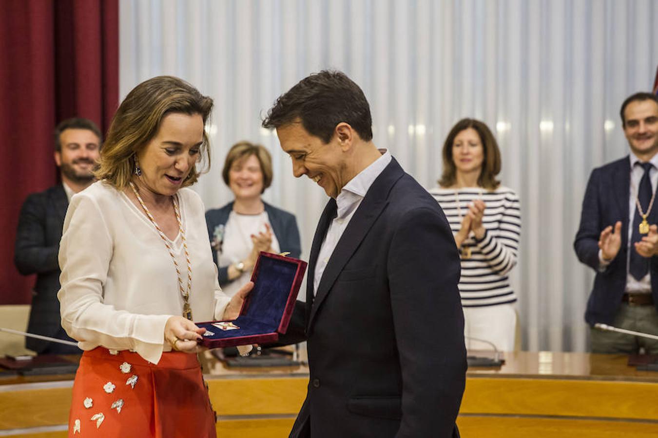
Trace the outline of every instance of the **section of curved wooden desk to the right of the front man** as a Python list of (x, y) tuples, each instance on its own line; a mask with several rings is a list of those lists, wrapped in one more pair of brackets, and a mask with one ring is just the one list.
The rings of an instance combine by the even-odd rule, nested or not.
[(656, 437), (658, 372), (625, 355), (507, 353), (498, 370), (468, 371), (463, 437)]

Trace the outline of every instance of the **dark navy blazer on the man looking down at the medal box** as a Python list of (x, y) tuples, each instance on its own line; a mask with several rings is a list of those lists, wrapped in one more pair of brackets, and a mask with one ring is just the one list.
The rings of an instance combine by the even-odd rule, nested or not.
[(308, 339), (310, 380), (291, 437), (455, 437), (467, 368), (457, 246), (443, 211), (392, 162), (332, 253), (313, 238), (306, 302), (282, 343)]

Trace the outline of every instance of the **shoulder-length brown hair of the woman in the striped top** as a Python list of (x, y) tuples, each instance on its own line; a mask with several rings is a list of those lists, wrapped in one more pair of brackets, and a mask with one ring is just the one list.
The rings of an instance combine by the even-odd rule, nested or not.
[(482, 160), (482, 171), (478, 177), (478, 186), (487, 190), (495, 190), (500, 185), (500, 181), (495, 179), (496, 175), (500, 173), (500, 150), (489, 127), (484, 122), (475, 119), (462, 119), (450, 130), (443, 143), (443, 175), (438, 183), (442, 187), (449, 187), (457, 181), (457, 167), (452, 156), (453, 143), (457, 134), (468, 128), (475, 129), (482, 142), (484, 159)]

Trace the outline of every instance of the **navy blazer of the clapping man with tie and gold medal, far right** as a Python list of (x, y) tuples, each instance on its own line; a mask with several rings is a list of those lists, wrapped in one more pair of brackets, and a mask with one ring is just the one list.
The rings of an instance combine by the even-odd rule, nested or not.
[[(613, 324), (626, 289), (628, 260), (628, 203), (630, 202), (630, 157), (603, 165), (592, 171), (582, 202), (580, 227), (574, 240), (578, 259), (596, 271), (594, 287), (587, 302), (585, 320)], [(621, 247), (617, 257), (603, 272), (599, 267), (599, 236), (608, 225), (621, 221)], [(658, 223), (658, 208), (653, 205), (648, 221)], [(634, 248), (630, 248), (634, 251)], [(658, 259), (651, 257), (651, 293), (658, 305)]]

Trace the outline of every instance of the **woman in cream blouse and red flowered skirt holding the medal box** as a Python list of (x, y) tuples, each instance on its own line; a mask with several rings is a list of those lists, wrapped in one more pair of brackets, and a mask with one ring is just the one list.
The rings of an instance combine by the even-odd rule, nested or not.
[(209, 165), (213, 101), (176, 77), (154, 77), (120, 104), (99, 181), (64, 221), (62, 326), (84, 350), (70, 437), (215, 437), (192, 320), (233, 319), (217, 282), (204, 207), (188, 186)]

